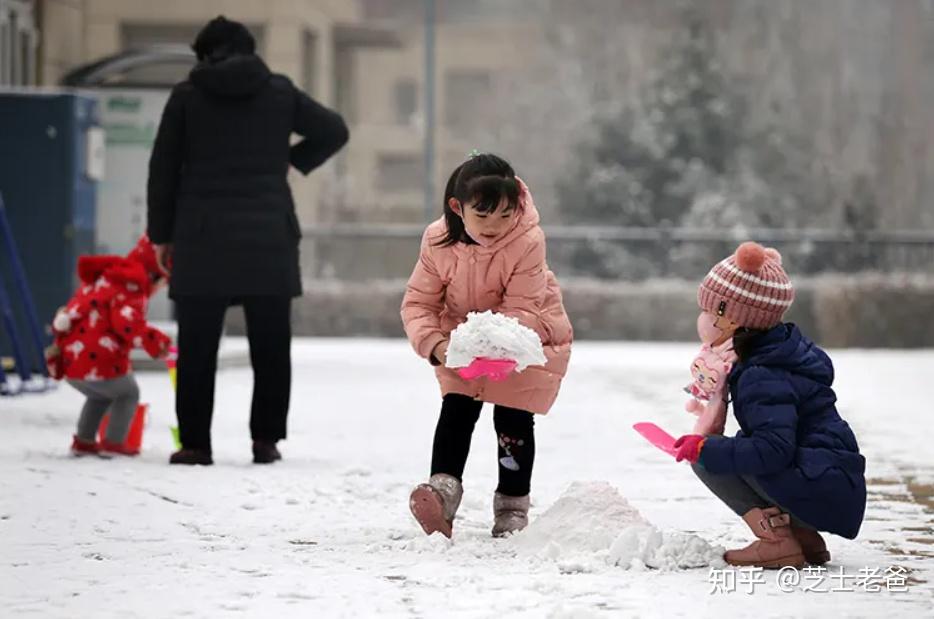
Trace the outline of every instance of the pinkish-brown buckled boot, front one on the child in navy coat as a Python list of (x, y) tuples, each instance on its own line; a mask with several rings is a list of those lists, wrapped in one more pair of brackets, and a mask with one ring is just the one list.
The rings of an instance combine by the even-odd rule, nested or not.
[(778, 507), (755, 507), (743, 514), (743, 520), (758, 537), (742, 550), (728, 550), (723, 559), (730, 565), (763, 568), (803, 567), (801, 544), (791, 531), (791, 516)]

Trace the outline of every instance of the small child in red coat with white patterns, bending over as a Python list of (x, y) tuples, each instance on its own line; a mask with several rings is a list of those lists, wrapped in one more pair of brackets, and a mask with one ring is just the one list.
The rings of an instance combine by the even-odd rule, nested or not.
[[(152, 243), (145, 235), (121, 256), (82, 256), (81, 287), (52, 321), (55, 342), (47, 354), (49, 373), (87, 397), (71, 451), (136, 455), (123, 443), (139, 404), (130, 351), (143, 348), (154, 358), (168, 353), (171, 340), (146, 322), (149, 297), (165, 283)], [(104, 413), (110, 422), (96, 440)]]

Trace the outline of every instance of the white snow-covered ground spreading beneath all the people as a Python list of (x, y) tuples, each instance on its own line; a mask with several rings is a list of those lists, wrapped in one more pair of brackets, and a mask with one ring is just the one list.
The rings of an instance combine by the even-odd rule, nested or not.
[[(152, 415), (137, 459), (67, 455), (81, 403), (67, 386), (0, 399), (0, 616), (934, 616), (934, 351), (832, 353), (870, 479), (860, 538), (829, 540), (829, 571), (849, 579), (803, 575), (784, 592), (774, 572), (736, 572), (729, 592), (729, 576), (710, 567), (630, 561), (646, 543), (627, 528), (632, 510), (666, 540), (696, 534), (701, 550), (749, 539), (687, 466), (630, 428), (690, 430), (681, 387), (694, 352), (578, 344), (554, 411), (537, 424), (533, 524), (506, 540), (489, 534), (488, 414), (454, 540), (426, 538), (412, 520), (408, 493), (428, 471), (439, 396), (403, 341), (296, 341), (285, 460), (268, 467), (250, 464), (249, 369), (218, 376), (213, 467), (167, 465), (164, 373), (140, 375)], [(900, 585), (884, 580), (890, 566), (910, 570), (907, 592), (886, 591)], [(867, 568), (878, 568), (882, 591), (856, 582)], [(727, 592), (711, 593), (717, 578)], [(764, 581), (752, 595), (751, 578)]]

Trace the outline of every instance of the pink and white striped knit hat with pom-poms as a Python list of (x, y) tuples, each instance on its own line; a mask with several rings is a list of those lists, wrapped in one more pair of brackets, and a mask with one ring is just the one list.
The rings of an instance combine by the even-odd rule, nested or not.
[(769, 329), (782, 321), (795, 290), (778, 251), (743, 243), (710, 269), (697, 290), (701, 309), (749, 329)]

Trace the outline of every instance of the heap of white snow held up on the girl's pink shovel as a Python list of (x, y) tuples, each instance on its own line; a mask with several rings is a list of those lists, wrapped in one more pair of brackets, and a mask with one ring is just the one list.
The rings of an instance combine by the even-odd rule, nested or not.
[(542, 341), (519, 320), (492, 311), (470, 312), (467, 322), (451, 332), (447, 367), (467, 367), (477, 357), (512, 359), (516, 371), (530, 365), (545, 365)]

